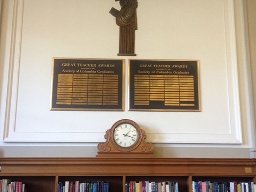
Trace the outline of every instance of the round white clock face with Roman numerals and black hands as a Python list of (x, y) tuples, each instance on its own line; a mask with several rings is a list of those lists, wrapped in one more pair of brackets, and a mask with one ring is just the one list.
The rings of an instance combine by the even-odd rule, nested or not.
[(118, 146), (129, 148), (136, 144), (139, 138), (139, 133), (134, 125), (125, 122), (118, 124), (114, 128), (113, 138)]

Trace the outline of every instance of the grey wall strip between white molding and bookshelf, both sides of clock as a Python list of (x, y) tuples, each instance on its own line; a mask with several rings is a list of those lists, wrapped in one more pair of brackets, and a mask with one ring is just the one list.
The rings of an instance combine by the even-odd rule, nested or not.
[[(0, 146), (0, 157), (96, 157), (97, 146)], [(250, 148), (154, 146), (158, 158), (250, 158)]]

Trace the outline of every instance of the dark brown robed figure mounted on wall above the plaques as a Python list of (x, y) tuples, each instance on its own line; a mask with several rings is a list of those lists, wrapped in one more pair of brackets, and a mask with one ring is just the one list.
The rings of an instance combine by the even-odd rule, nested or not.
[(115, 0), (120, 1), (121, 10), (111, 8), (110, 14), (116, 17), (116, 24), (120, 26), (119, 53), (118, 55), (136, 56), (134, 53), (135, 30), (137, 27), (138, 7), (137, 0)]

